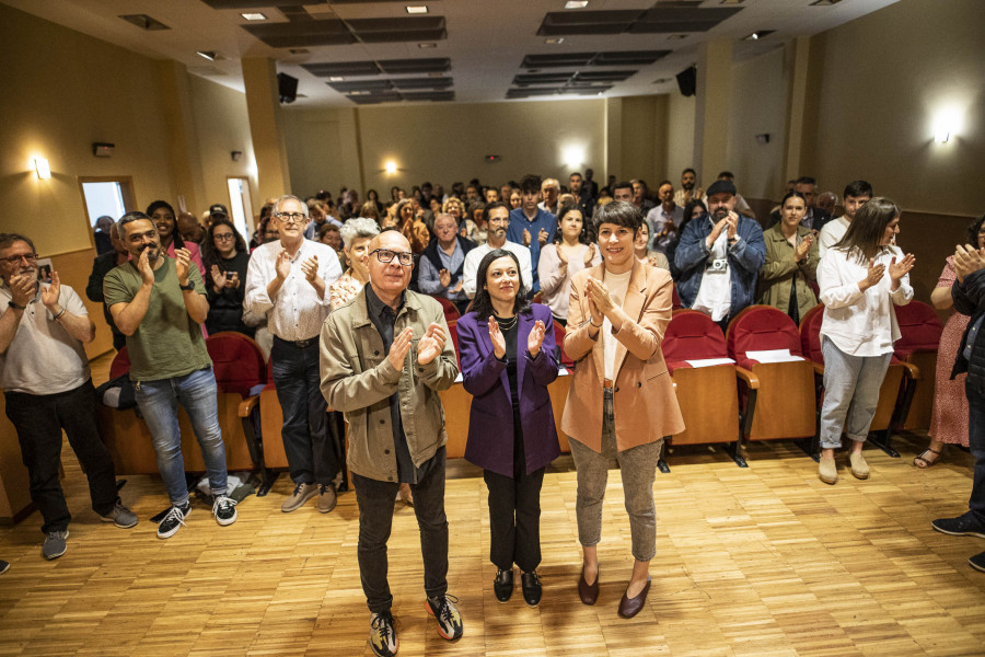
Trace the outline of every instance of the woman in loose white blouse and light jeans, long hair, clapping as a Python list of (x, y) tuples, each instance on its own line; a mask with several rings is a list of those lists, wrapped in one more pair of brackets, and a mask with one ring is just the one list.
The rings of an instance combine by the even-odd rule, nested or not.
[(838, 481), (834, 450), (842, 433), (851, 439), (848, 462), (857, 479), (869, 476), (862, 446), (876, 415), (879, 389), (900, 338), (893, 304), (913, 299), (909, 270), (915, 260), (894, 245), (900, 208), (877, 197), (864, 205), (845, 237), (818, 266), (824, 319), (824, 403), (821, 407), (821, 463), (826, 484)]

